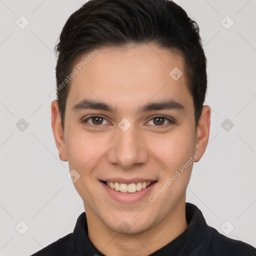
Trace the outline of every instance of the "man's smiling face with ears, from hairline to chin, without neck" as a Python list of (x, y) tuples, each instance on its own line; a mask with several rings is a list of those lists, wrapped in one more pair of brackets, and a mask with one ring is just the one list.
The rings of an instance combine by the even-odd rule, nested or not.
[(117, 232), (152, 229), (185, 202), (207, 144), (209, 109), (196, 127), (177, 53), (145, 44), (99, 48), (79, 70), (87, 54), (73, 66), (64, 131), (52, 102), (59, 156), (79, 176), (86, 214)]

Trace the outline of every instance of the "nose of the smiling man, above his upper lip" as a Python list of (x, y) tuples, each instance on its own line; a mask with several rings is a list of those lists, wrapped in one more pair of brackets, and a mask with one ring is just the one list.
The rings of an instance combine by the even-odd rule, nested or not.
[(117, 128), (117, 134), (110, 142), (107, 151), (107, 160), (112, 164), (118, 164), (123, 169), (140, 165), (148, 161), (148, 148), (143, 143), (142, 137), (136, 132), (135, 126), (123, 131)]

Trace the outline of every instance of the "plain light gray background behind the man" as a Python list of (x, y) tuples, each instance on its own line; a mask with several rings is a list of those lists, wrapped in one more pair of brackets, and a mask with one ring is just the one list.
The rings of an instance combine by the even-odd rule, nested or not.
[[(0, 255), (45, 247), (72, 232), (84, 211), (58, 158), (46, 98), (55, 87), (56, 39), (84, 2), (0, 0)], [(194, 164), (187, 201), (220, 233), (256, 246), (256, 1), (176, 2), (199, 24), (212, 109), (208, 148)], [(21, 15), (29, 21), (24, 29)]]

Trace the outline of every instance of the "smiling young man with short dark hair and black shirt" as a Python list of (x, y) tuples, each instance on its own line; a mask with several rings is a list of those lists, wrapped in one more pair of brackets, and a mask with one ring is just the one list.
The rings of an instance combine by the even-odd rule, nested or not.
[(52, 130), (84, 210), (39, 255), (256, 255), (185, 202), (209, 137), (197, 24), (167, 0), (92, 0), (56, 47)]

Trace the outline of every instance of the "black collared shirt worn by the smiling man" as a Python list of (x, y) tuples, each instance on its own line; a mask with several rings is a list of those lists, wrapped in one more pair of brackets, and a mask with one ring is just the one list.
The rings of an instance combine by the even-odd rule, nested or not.
[[(202, 212), (186, 202), (188, 227), (174, 240), (153, 252), (152, 256), (255, 256), (251, 245), (228, 238), (206, 224)], [(103, 256), (87, 235), (85, 212), (77, 218), (73, 233), (49, 244), (31, 256)]]

